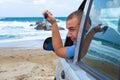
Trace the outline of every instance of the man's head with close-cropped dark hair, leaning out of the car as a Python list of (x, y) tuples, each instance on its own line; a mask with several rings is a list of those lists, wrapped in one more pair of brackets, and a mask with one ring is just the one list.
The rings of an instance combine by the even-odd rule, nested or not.
[[(70, 37), (74, 43), (76, 43), (76, 40), (77, 40), (77, 35), (78, 35), (79, 27), (80, 27), (82, 13), (83, 12), (81, 10), (77, 10), (71, 13), (67, 17), (66, 28), (68, 29), (68, 37)], [(91, 21), (89, 18), (87, 22), (87, 26), (86, 26), (86, 32), (90, 28), (90, 25), (91, 25)]]

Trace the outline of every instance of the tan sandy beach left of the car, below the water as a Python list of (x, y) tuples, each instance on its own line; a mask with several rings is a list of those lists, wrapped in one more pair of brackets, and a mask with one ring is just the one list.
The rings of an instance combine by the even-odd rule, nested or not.
[(57, 62), (41, 48), (0, 48), (0, 80), (53, 80)]

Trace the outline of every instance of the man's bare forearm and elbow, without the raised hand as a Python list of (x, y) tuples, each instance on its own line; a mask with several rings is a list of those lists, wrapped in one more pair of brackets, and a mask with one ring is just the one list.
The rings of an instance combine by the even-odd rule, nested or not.
[(57, 23), (52, 24), (52, 42), (56, 54), (66, 58), (66, 47), (63, 47)]

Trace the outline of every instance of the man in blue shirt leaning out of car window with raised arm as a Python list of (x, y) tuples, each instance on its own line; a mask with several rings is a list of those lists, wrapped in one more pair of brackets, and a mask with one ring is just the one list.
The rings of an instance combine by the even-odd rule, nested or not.
[[(62, 44), (62, 40), (60, 37), (59, 29), (57, 22), (55, 18), (53, 17), (52, 13), (49, 12), (48, 10), (44, 11), (43, 14), (48, 14), (47, 21), (51, 23), (52, 25), (52, 43), (53, 43), (53, 48), (55, 53), (62, 58), (71, 58), (74, 56), (75, 52), (75, 44), (78, 36), (78, 31), (80, 27), (80, 21), (82, 18), (82, 11), (77, 10), (73, 13), (71, 13), (67, 17), (66, 21), (66, 28), (68, 29), (68, 37), (71, 38), (73, 41), (74, 45), (72, 46), (66, 46), (64, 47)], [(86, 32), (90, 28), (91, 21), (90, 18), (87, 21), (87, 26), (86, 26)], [(85, 55), (85, 53), (88, 50), (89, 44), (96, 32), (102, 31), (100, 28), (101, 25), (98, 25), (97, 27), (93, 28), (89, 34), (85, 37), (84, 42), (83, 42), (83, 48), (82, 48), (82, 57)]]

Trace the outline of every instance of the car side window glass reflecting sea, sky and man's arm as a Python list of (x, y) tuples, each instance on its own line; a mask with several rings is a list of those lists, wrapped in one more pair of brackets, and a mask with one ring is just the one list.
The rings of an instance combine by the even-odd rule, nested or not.
[(120, 0), (94, 0), (90, 11), (91, 28), (102, 23), (106, 32), (98, 32), (82, 62), (102, 74), (119, 80), (120, 76)]

